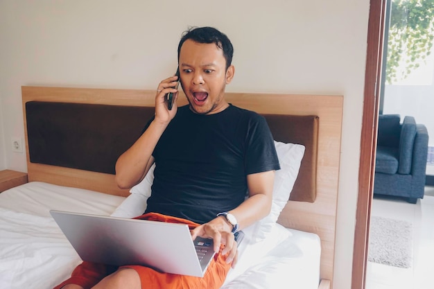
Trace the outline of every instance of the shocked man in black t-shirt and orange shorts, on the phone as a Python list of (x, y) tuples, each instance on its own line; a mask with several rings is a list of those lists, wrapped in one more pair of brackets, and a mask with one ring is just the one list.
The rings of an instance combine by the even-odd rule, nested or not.
[(124, 189), (140, 182), (155, 162), (152, 195), (141, 218), (185, 222), (194, 227), (193, 239), (213, 238), (217, 255), (205, 277), (84, 263), (58, 288), (90, 288), (95, 283), (92, 288), (222, 286), (236, 263), (233, 233), (268, 215), (274, 170), (279, 169), (265, 119), (225, 100), (225, 86), (234, 77), (232, 55), (231, 42), (215, 28), (187, 31), (178, 46), (178, 64), (189, 105), (174, 103), (168, 110), (165, 95), (172, 92), (176, 100), (178, 77), (162, 80), (154, 118), (116, 162), (116, 182)]

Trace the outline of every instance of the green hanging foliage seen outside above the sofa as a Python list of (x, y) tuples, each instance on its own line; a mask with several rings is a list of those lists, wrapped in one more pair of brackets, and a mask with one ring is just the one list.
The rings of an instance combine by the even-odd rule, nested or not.
[(431, 54), (434, 0), (392, 0), (386, 82), (405, 79)]

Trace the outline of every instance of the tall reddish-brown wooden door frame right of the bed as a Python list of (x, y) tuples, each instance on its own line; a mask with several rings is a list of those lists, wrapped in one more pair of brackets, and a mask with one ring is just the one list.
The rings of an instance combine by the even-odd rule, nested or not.
[(363, 120), (361, 130), (361, 157), (358, 168), (358, 200), (354, 231), (352, 289), (365, 289), (367, 249), (376, 153), (376, 131), (379, 116), (383, 35), (387, 0), (370, 0), (367, 29), (367, 53)]

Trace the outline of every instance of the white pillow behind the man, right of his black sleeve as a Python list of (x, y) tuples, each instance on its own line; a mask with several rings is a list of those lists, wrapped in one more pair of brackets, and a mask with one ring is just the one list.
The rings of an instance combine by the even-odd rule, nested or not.
[(265, 239), (275, 226), (281, 210), (284, 209), (286, 202), (289, 200), (290, 192), (293, 190), (304, 156), (305, 148), (300, 144), (275, 141), (275, 147), (280, 170), (275, 172), (271, 211), (265, 218), (243, 229), (246, 235), (250, 235), (250, 238), (257, 242)]

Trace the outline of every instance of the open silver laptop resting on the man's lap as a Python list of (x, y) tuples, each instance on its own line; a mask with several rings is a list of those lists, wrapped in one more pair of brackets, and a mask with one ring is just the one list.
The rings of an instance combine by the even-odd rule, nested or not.
[[(83, 261), (145, 265), (159, 272), (203, 277), (214, 256), (212, 239), (191, 239), (188, 225), (50, 211)], [(243, 238), (236, 234), (238, 244)]]

